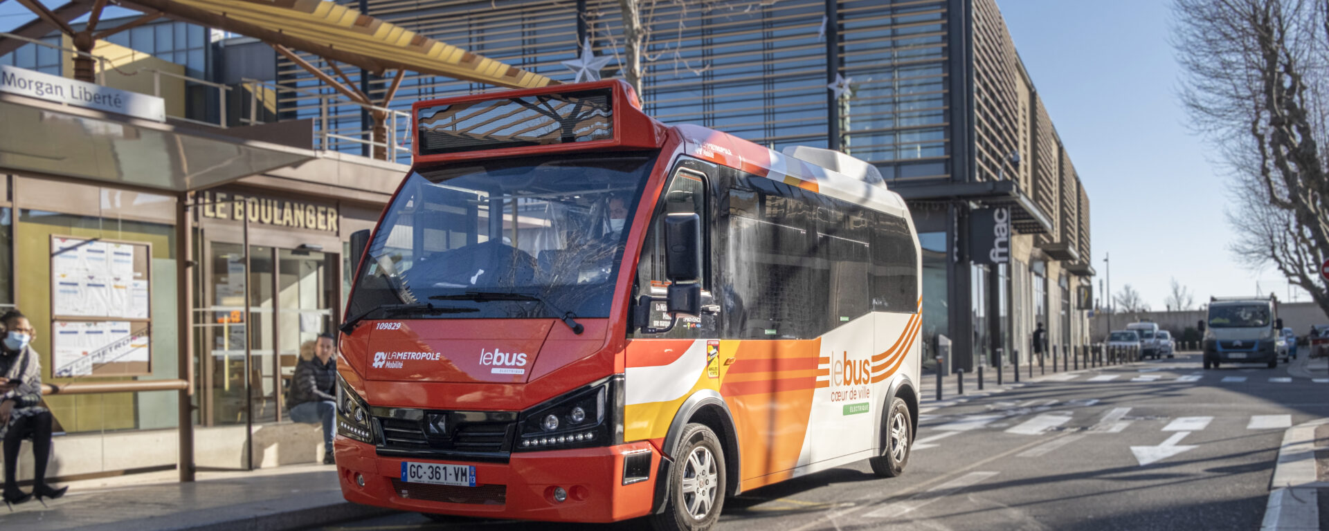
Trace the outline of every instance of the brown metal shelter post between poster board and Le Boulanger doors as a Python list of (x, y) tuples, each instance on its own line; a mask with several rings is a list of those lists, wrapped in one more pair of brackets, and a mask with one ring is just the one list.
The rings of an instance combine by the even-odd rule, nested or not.
[(190, 269), (194, 262), (191, 240), (194, 227), (190, 216), (193, 192), (183, 192), (177, 200), (179, 210), (175, 212), (175, 327), (178, 328), (175, 333), (175, 377), (189, 382), (175, 397), (177, 437), (179, 439), (177, 470), (181, 483), (187, 483), (194, 481), (194, 331), (193, 319), (190, 319), (194, 308), (193, 269)]

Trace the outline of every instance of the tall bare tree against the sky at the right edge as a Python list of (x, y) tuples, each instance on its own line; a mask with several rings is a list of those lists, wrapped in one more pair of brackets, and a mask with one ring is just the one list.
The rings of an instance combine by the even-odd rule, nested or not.
[(1174, 0), (1192, 126), (1235, 177), (1232, 246), (1329, 312), (1329, 3)]

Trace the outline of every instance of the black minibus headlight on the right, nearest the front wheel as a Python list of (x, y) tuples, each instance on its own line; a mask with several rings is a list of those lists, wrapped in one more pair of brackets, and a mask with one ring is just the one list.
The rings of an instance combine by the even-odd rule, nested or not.
[(611, 445), (622, 437), (617, 378), (606, 378), (521, 413), (516, 451)]

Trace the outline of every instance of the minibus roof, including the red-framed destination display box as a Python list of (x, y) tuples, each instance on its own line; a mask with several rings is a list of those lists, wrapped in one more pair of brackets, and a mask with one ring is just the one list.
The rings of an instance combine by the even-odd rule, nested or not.
[(868, 162), (805, 146), (779, 153), (696, 125), (666, 126), (621, 80), (425, 100), (412, 115), (417, 165), (659, 149), (675, 137), (691, 157), (909, 219), (904, 199)]

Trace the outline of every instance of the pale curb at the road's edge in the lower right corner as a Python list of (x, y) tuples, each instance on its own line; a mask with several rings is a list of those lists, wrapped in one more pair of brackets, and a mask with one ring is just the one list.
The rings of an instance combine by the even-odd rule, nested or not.
[(1265, 506), (1261, 531), (1318, 531), (1318, 490), (1329, 482), (1318, 481), (1316, 471), (1316, 427), (1329, 423), (1321, 418), (1289, 427), (1282, 434), (1278, 461), (1269, 481), (1269, 503)]

